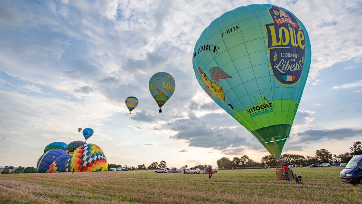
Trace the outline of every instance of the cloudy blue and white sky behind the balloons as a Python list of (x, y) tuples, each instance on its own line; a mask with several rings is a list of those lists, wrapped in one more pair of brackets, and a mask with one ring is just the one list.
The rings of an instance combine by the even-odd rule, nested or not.
[[(199, 86), (192, 56), (223, 13), (273, 4), (307, 29), (310, 72), (283, 154), (349, 152), (362, 141), (362, 1), (0, 1), (0, 166), (36, 167), (52, 142), (92, 128), (108, 163), (207, 164), (268, 151)], [(170, 73), (159, 107), (151, 76)], [(131, 114), (125, 99), (139, 105)]]

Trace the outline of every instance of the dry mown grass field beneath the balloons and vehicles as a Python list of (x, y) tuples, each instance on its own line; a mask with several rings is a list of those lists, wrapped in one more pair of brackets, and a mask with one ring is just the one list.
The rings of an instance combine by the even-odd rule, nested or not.
[(303, 184), (277, 180), (275, 169), (219, 170), (211, 179), (153, 171), (9, 174), (0, 175), (0, 202), (362, 203), (362, 186), (344, 183), (342, 168), (293, 168)]

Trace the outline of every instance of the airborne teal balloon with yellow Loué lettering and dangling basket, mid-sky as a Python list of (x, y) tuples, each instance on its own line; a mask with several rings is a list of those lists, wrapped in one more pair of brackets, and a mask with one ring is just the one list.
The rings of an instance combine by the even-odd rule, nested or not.
[(148, 88), (150, 89), (152, 97), (160, 107), (160, 113), (162, 113), (161, 107), (165, 105), (172, 96), (175, 86), (175, 80), (169, 73), (158, 72), (151, 77)]

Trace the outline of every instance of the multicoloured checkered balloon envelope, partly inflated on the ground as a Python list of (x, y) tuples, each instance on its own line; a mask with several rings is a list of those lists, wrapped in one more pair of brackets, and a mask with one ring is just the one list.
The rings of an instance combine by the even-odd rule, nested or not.
[(108, 162), (101, 150), (96, 144), (84, 144), (78, 147), (69, 158), (66, 171), (107, 171)]

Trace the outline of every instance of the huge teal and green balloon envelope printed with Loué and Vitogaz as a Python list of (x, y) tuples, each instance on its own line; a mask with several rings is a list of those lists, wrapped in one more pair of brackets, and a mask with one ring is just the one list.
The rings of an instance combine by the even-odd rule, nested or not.
[(202, 32), (193, 53), (201, 87), (274, 158), (289, 137), (310, 63), (302, 22), (269, 4), (224, 13)]

